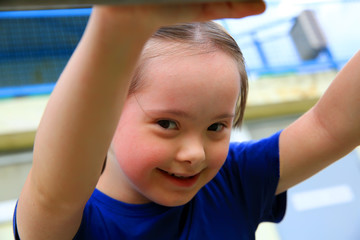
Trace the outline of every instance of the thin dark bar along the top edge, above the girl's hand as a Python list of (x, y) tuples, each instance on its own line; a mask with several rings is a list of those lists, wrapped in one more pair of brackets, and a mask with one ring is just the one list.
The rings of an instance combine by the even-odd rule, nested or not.
[[(236, 2), (249, 2), (260, 0), (232, 0)], [(174, 4), (194, 2), (226, 2), (226, 0), (0, 0), (0, 10), (34, 10), (34, 9), (61, 9), (84, 8), (95, 4)]]

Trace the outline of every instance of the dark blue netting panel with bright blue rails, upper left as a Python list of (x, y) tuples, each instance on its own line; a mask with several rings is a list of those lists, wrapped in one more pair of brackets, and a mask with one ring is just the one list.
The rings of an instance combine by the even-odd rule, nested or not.
[(49, 93), (90, 9), (0, 12), (0, 97)]

